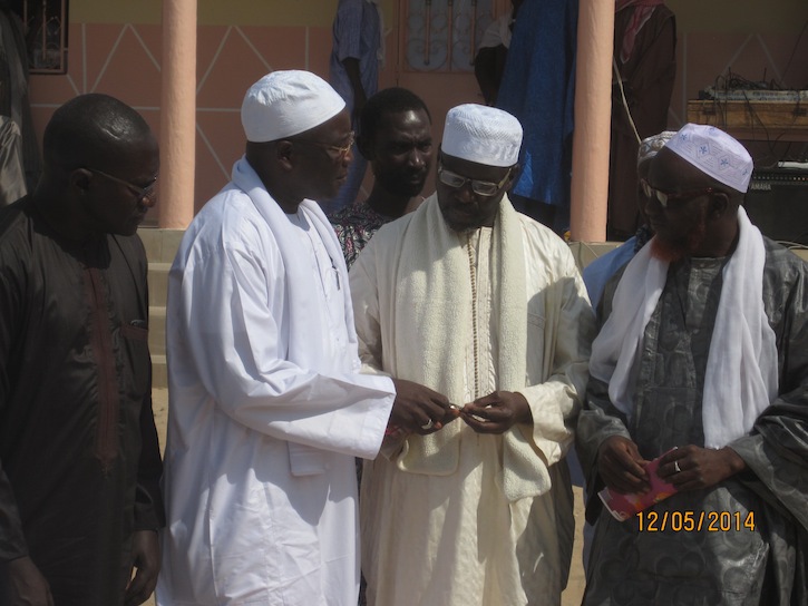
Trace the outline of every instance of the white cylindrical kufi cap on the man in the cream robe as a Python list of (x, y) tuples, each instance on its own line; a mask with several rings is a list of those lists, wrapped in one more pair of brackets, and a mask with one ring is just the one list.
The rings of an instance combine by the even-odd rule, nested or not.
[(519, 162), (522, 125), (507, 111), (485, 105), (452, 107), (446, 115), (444, 154), (487, 166)]

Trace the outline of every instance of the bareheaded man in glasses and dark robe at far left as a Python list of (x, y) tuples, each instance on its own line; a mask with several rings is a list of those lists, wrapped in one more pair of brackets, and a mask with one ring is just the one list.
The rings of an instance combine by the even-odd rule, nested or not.
[(33, 194), (0, 209), (0, 604), (136, 605), (164, 524), (136, 235), (157, 141), (85, 95), (43, 150)]

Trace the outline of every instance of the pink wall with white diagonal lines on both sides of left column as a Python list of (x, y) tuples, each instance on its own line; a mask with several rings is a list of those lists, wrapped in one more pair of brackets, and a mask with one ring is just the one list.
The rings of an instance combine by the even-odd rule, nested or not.
[[(275, 69), (328, 77), (330, 30), (308, 27), (203, 26), (197, 39), (196, 207), (230, 179), (244, 148), (238, 110), (244, 91)], [(105, 92), (135, 107), (159, 134), (162, 28), (74, 23), (66, 75), (31, 77), (41, 140), (53, 110), (76, 95)], [(150, 211), (156, 221), (159, 205)]]

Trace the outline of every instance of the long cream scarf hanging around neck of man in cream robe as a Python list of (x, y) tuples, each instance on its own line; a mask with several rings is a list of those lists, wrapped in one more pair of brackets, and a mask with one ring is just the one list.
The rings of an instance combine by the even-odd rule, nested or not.
[[(393, 303), (396, 374), (444, 393), (464, 404), (467, 375), (466, 343), (473, 339), (471, 281), (466, 236), (445, 223), (435, 195), (409, 216), (396, 251)], [(495, 352), (497, 388), (518, 391), (526, 384), (527, 297), (525, 253), (516, 211), (507, 197), (499, 206), (491, 234), (493, 310), (499, 317)], [(487, 358), (489, 343), (478, 344)], [(487, 395), (479, 393), (477, 397)], [(398, 458), (403, 471), (452, 473), (460, 457), (461, 422), (430, 436), (410, 436)], [(499, 479), (510, 501), (549, 489), (549, 476), (536, 448), (518, 427), (503, 436)]]

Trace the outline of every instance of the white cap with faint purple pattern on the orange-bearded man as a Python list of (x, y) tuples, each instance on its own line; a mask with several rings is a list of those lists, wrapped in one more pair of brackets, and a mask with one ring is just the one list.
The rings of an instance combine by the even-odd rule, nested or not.
[(752, 157), (737, 139), (714, 126), (685, 124), (668, 149), (715, 180), (742, 194), (752, 178)]

